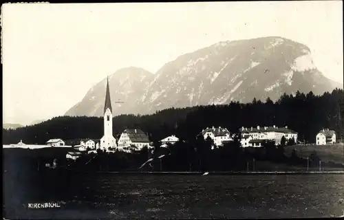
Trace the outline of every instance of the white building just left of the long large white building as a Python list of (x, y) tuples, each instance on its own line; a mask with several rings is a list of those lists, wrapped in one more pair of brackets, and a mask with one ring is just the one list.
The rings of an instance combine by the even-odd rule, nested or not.
[(222, 128), (221, 126), (219, 126), (218, 128), (215, 128), (213, 126), (213, 128), (211, 129), (203, 129), (199, 135), (202, 135), (204, 137), (204, 140), (206, 140), (208, 137), (211, 137), (211, 139), (214, 141), (215, 146), (221, 146), (222, 142), (233, 140), (228, 129)]

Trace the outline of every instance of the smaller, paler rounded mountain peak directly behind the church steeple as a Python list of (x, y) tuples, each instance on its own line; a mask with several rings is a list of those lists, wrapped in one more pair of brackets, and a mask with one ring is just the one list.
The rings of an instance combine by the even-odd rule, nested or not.
[[(109, 76), (111, 106), (115, 115), (140, 113), (144, 109), (138, 106), (139, 98), (146, 93), (154, 75), (137, 67), (127, 67)], [(86, 96), (65, 115), (103, 115), (107, 78), (89, 89)], [(124, 103), (116, 103), (124, 102)], [(133, 110), (134, 109), (134, 110)]]

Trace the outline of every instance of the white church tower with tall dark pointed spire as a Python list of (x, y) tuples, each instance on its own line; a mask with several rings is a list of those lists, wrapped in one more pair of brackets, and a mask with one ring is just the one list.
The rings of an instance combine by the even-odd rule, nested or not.
[(107, 91), (105, 95), (104, 106), (104, 136), (100, 139), (100, 149), (108, 150), (109, 148), (116, 147), (116, 139), (112, 134), (112, 107), (109, 89), (109, 78), (107, 78)]

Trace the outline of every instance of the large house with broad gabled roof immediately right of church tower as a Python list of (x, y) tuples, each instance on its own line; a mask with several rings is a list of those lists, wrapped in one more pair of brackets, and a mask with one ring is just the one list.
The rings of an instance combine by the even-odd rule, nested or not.
[(149, 147), (149, 139), (140, 129), (125, 129), (118, 140), (118, 148), (122, 151), (128, 151), (131, 145), (140, 150), (144, 146)]

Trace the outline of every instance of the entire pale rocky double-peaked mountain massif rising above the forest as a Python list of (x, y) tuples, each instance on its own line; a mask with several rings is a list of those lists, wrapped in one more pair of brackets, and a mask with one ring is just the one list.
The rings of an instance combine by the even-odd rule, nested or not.
[[(130, 67), (110, 78), (115, 115), (253, 98), (275, 101), (284, 92), (323, 94), (343, 88), (316, 69), (307, 46), (275, 36), (219, 42), (179, 56), (154, 75)], [(66, 115), (102, 115), (105, 83), (103, 79), (90, 89)], [(116, 99), (125, 103), (114, 107)]]

